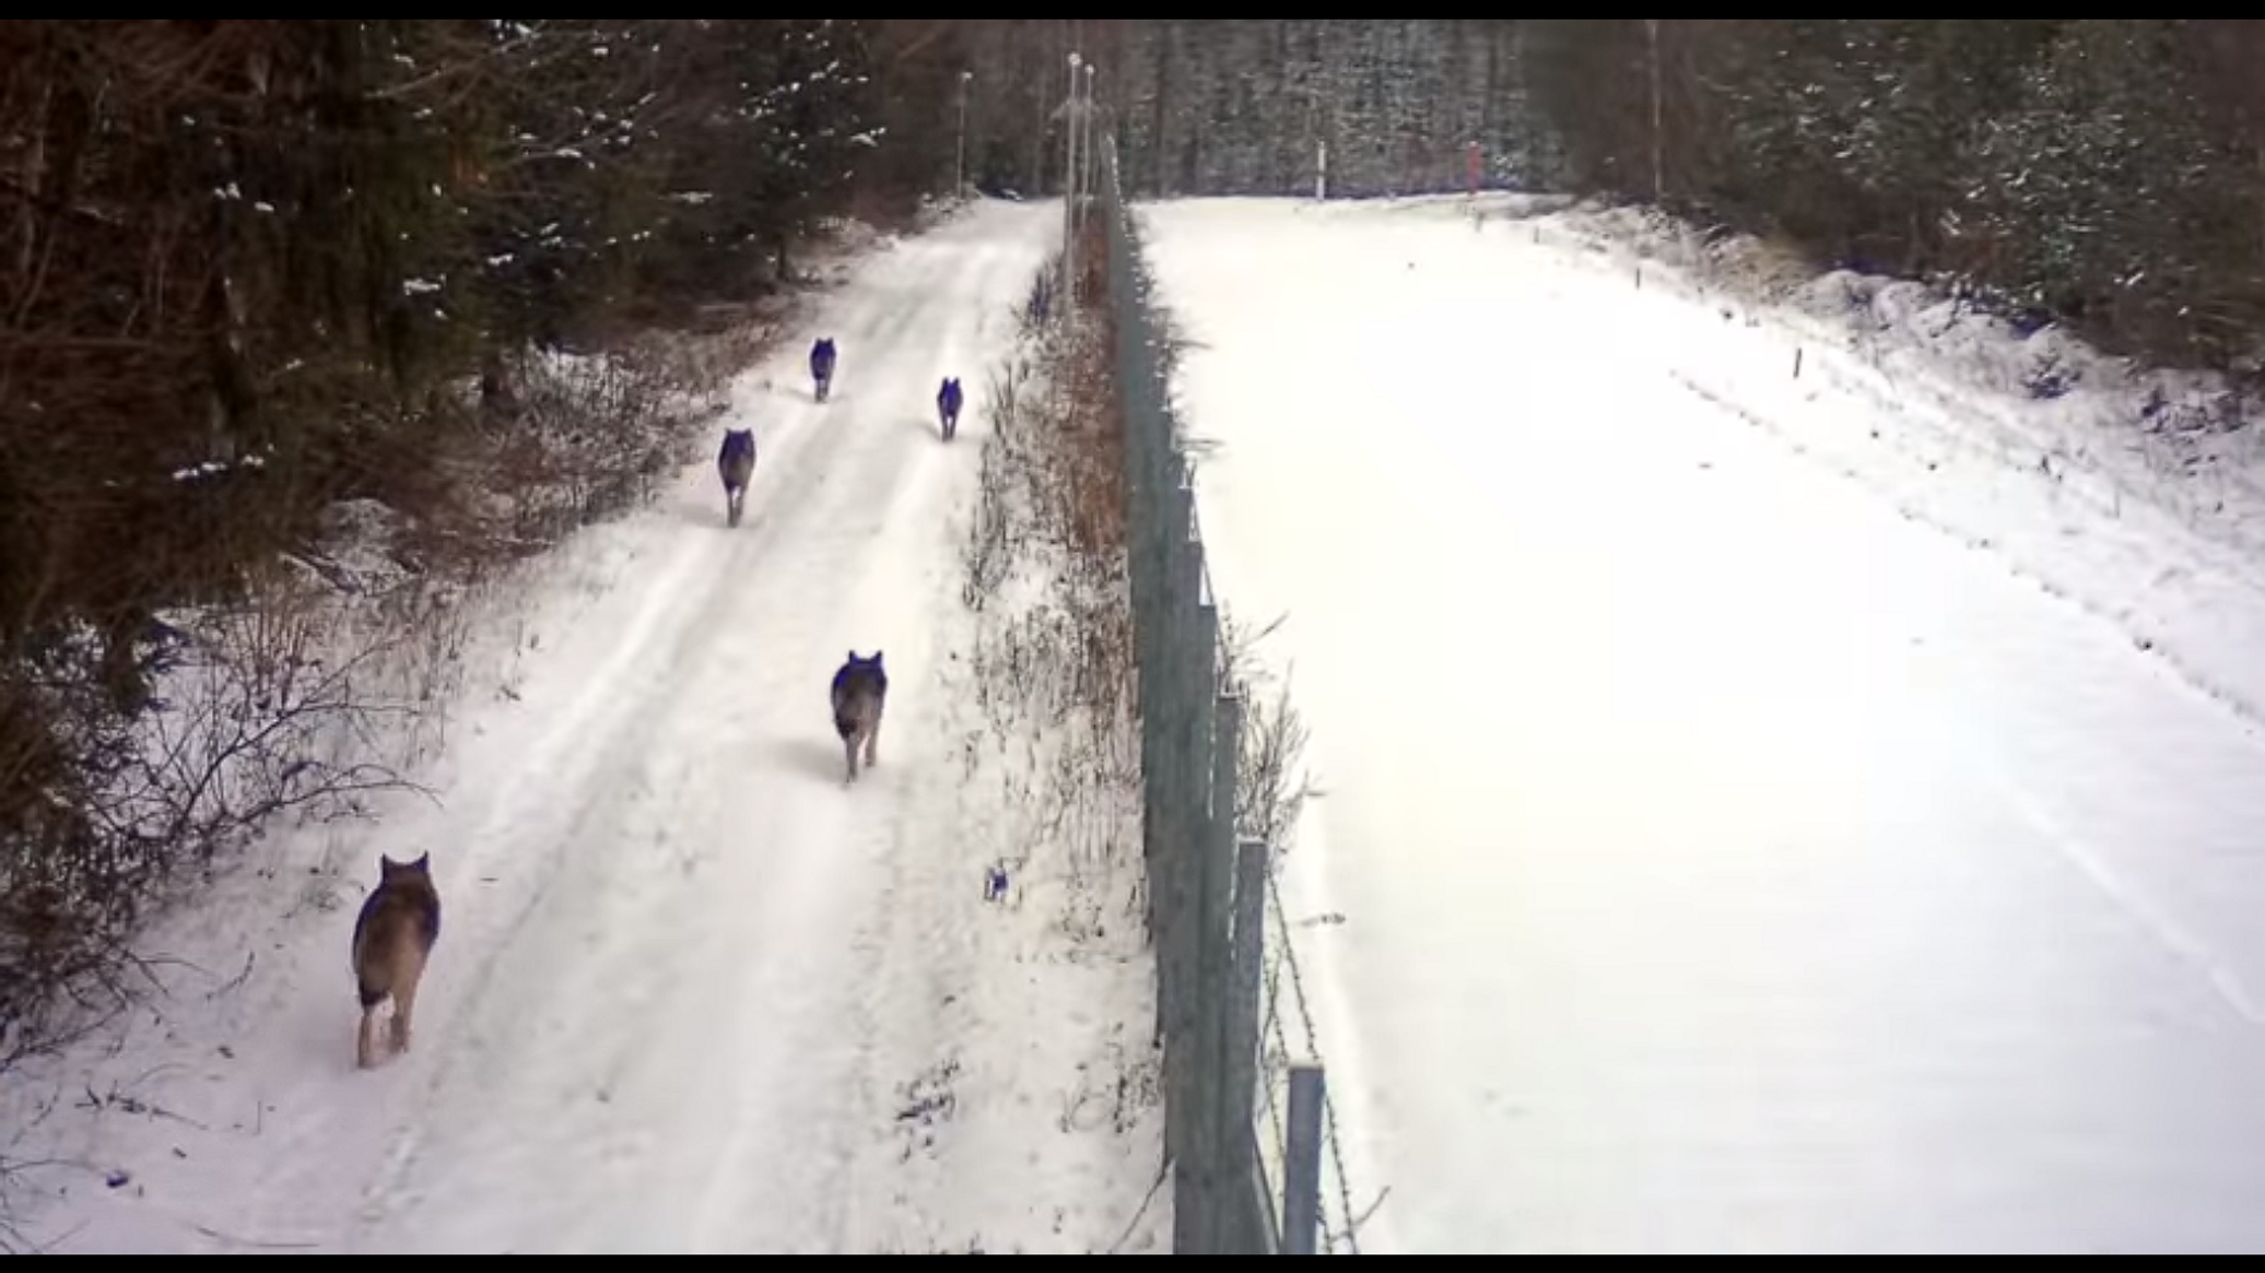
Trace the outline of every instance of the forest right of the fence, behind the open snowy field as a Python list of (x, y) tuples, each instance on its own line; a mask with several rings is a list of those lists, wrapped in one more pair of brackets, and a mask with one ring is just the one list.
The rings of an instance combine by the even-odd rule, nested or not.
[[(2265, 27), (2240, 18), (1148, 20), (1142, 195), (1649, 199), (1959, 285), (2131, 353), (2258, 369)], [(1105, 91), (1108, 93), (1108, 91)]]

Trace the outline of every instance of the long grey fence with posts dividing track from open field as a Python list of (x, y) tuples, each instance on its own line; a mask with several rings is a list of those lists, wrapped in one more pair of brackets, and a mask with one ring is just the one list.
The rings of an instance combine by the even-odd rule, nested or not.
[(1359, 1255), (1273, 847), (1237, 827), (1246, 698), (1228, 682), (1189, 455), (1171, 405), (1171, 344), (1123, 202), (1114, 136), (1099, 138), (1099, 161), (1126, 421), (1142, 852), (1173, 1253)]

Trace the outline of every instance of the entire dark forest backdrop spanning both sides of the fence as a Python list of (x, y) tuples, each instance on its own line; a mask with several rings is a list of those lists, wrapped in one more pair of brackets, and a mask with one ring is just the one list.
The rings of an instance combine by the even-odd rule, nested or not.
[(0, 1065), (183, 868), (390, 781), (313, 745), (371, 709), (290, 600), (365, 587), (342, 510), (433, 632), (689, 458), (713, 342), (840, 217), (911, 224), (963, 138), (969, 186), (1060, 193), (1071, 52), (1137, 195), (1461, 190), (1477, 145), (2258, 371), (2245, 20), (11, 20)]

